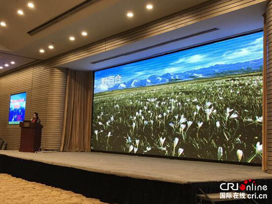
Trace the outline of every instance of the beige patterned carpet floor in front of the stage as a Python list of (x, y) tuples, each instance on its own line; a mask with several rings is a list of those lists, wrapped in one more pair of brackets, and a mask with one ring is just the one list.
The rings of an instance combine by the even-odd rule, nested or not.
[(72, 191), (0, 173), (0, 204), (104, 204)]

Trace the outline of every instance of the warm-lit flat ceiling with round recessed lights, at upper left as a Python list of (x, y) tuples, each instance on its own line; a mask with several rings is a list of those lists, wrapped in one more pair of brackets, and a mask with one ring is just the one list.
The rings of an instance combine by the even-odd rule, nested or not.
[[(18, 66), (50, 58), (94, 41), (110, 37), (139, 25), (200, 4), (207, 0), (93, 0), (89, 6), (69, 15), (35, 35), (27, 32), (86, 0), (0, 0), (0, 73)], [(87, 0), (88, 1), (88, 0)], [(90, 0), (89, 0), (90, 1)], [(152, 10), (145, 8), (153, 4)], [(17, 10), (23, 10), (19, 15)], [(132, 11), (134, 16), (127, 17)], [(82, 31), (88, 35), (83, 37)], [(75, 41), (69, 37), (74, 36)], [(48, 45), (54, 49), (49, 50)], [(44, 49), (44, 53), (39, 50)], [(15, 61), (14, 65), (10, 61)]]

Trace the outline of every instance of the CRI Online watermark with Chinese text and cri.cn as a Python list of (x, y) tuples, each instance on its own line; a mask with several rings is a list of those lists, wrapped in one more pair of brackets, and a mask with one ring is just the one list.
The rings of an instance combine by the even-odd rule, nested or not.
[[(261, 185), (256, 185), (255, 181), (248, 179), (244, 180), (244, 184), (238, 185), (238, 183), (222, 183), (220, 185), (220, 189), (223, 191), (238, 191), (239, 189), (241, 191), (266, 191), (267, 186), (261, 186)], [(237, 193), (237, 192), (229, 192), (229, 193), (220, 193), (220, 198), (221, 199), (267, 199), (267, 194), (246, 194), (246, 193)]]

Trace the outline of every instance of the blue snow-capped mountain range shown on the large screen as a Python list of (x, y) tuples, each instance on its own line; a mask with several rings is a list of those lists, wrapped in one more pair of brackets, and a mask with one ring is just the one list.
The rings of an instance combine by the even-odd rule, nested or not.
[[(114, 85), (99, 84), (94, 86), (94, 93), (118, 90), (125, 88), (135, 88), (140, 86), (157, 85), (173, 81), (193, 80), (196, 78), (218, 77), (230, 74), (249, 73), (262, 69), (263, 59), (238, 62), (234, 64), (214, 65), (207, 68), (190, 70), (182, 73), (166, 73), (162, 76), (151, 75), (145, 80), (132, 79), (128, 82), (116, 83)], [(261, 66), (261, 67), (260, 67)]]

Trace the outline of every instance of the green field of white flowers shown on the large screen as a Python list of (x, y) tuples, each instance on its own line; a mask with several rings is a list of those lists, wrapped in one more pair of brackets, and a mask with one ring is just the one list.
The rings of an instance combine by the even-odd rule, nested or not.
[(94, 94), (94, 150), (261, 163), (262, 73)]

